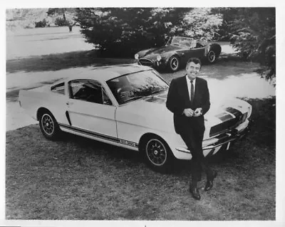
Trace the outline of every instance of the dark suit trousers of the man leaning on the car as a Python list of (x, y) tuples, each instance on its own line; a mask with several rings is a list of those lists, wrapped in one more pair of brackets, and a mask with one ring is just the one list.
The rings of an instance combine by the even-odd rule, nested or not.
[(209, 168), (207, 159), (202, 150), (202, 141), (204, 137), (204, 125), (198, 125), (195, 117), (191, 117), (185, 122), (185, 126), (180, 132), (180, 136), (187, 145), (192, 154), (192, 187), (197, 187), (197, 182), (201, 181), (202, 170), (207, 174), (207, 179), (212, 176), (213, 171)]

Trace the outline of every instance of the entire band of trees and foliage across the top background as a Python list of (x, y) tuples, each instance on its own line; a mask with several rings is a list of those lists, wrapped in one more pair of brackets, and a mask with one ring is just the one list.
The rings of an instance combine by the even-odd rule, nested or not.
[(50, 8), (6, 10), (6, 28), (78, 24), (103, 57), (128, 57), (165, 44), (173, 35), (230, 41), (242, 60), (258, 62), (266, 79), (276, 75), (274, 7)]

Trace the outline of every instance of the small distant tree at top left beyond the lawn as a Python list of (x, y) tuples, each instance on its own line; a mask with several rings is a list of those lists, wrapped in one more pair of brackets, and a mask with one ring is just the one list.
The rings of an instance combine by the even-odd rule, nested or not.
[(56, 19), (56, 25), (58, 26), (68, 26), (69, 31), (72, 31), (73, 26), (76, 25), (76, 21), (73, 19), (73, 14), (76, 13), (75, 8), (48, 8), (48, 11), (46, 14), (48, 16), (53, 15), (60, 15), (63, 16), (63, 18), (57, 18)]

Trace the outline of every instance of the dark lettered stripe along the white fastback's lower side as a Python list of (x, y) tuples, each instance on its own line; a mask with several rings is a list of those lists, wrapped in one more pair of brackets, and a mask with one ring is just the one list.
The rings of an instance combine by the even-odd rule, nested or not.
[(116, 137), (110, 137), (110, 136), (108, 136), (106, 134), (100, 134), (100, 133), (97, 133), (97, 132), (91, 132), (91, 131), (83, 130), (83, 129), (80, 129), (78, 127), (73, 127), (73, 126), (70, 126), (70, 125), (65, 125), (65, 124), (60, 124), (60, 123), (58, 123), (58, 125), (60, 127), (66, 128), (68, 130), (73, 130), (74, 132), (87, 134), (87, 135), (92, 136), (92, 137), (98, 137), (100, 139), (110, 140), (112, 142), (117, 142), (119, 144), (125, 144), (125, 145), (128, 145), (130, 147), (138, 147), (137, 143), (132, 142), (132, 141), (128, 141), (128, 140), (125, 140), (125, 139), (120, 139), (120, 138), (116, 138)]

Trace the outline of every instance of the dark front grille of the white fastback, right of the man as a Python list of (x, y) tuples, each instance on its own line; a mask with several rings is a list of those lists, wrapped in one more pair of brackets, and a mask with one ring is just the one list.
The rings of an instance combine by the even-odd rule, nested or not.
[(231, 112), (235, 118), (232, 118), (230, 120), (226, 120), (224, 118), (224, 120), (226, 121), (222, 122), (219, 125), (211, 127), (211, 129), (209, 130), (209, 137), (213, 137), (217, 134), (221, 134), (223, 132), (232, 130), (234, 127), (237, 127), (237, 125), (242, 124), (242, 122), (244, 122), (247, 119), (247, 113), (242, 114), (242, 112), (240, 112), (239, 110), (236, 110), (231, 107), (227, 108), (226, 110), (228, 112)]

